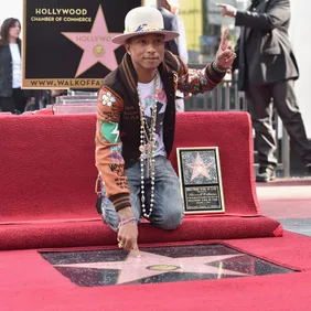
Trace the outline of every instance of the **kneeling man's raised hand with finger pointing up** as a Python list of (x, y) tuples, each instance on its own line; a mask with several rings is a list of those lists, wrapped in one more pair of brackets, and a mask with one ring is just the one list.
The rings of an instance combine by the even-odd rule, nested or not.
[(222, 34), (221, 45), (216, 53), (215, 64), (217, 68), (225, 71), (230, 69), (236, 54), (227, 40), (228, 29), (225, 29)]

